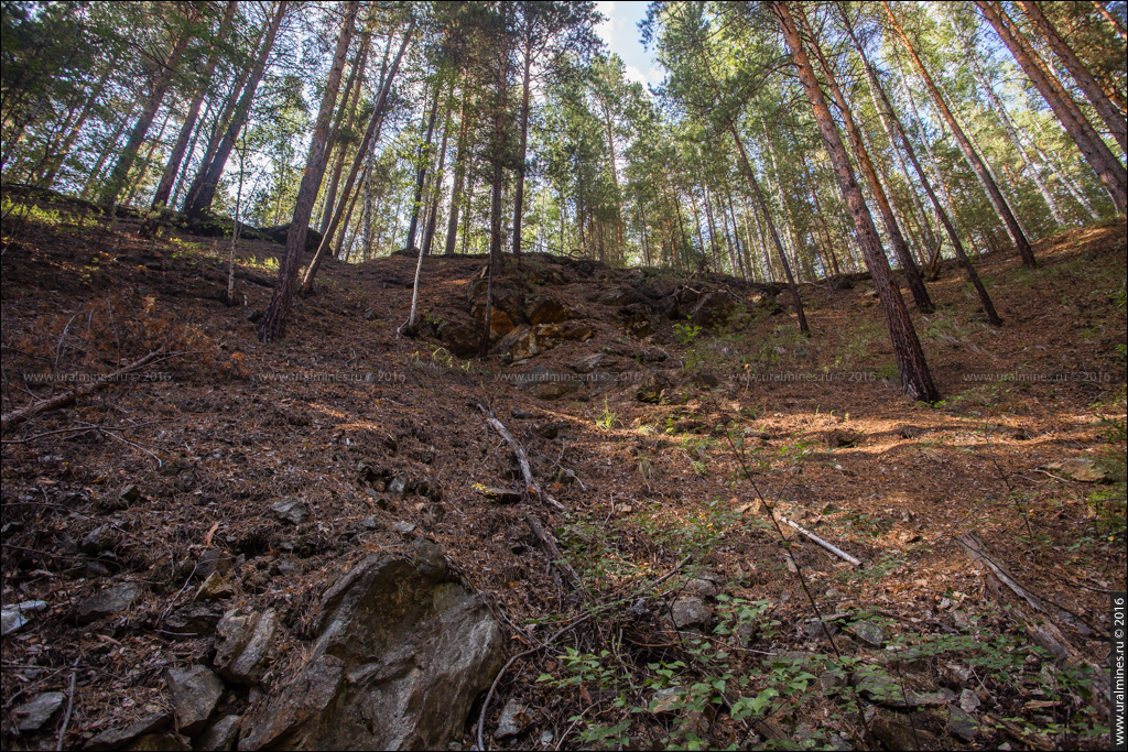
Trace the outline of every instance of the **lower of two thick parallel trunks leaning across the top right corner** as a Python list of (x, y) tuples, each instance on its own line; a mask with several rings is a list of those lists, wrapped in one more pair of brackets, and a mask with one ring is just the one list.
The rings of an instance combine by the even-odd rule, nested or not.
[(1085, 161), (1101, 178), (1101, 183), (1112, 196), (1112, 203), (1116, 204), (1117, 211), (1123, 214), (1128, 211), (1128, 174), (1126, 174), (1123, 165), (1112, 156), (1104, 141), (1054, 73), (1036, 57), (1006, 12), (986, 0), (976, 0), (976, 5), (1011, 50), (1011, 54), (1014, 55), (1023, 72), (1041, 92), (1050, 109), (1057, 115), (1061, 126), (1077, 144)]

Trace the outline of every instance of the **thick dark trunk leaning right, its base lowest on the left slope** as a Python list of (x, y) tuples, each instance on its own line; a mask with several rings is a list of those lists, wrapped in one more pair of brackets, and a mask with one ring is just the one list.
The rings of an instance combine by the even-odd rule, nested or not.
[[(280, 3), (281, 5), (281, 3)], [(258, 338), (264, 343), (276, 342), (285, 333), (287, 316), (290, 302), (293, 300), (294, 284), (298, 281), (298, 265), (306, 249), (306, 235), (309, 232), (309, 218), (314, 213), (314, 201), (321, 187), (325, 176), (325, 165), (328, 161), (326, 149), (329, 138), (329, 121), (333, 117), (333, 105), (341, 88), (341, 73), (344, 71), (345, 57), (349, 56), (349, 43), (352, 41), (353, 27), (356, 21), (359, 0), (351, 0), (345, 10), (344, 24), (337, 36), (337, 46), (333, 53), (333, 67), (321, 94), (321, 105), (317, 110), (317, 121), (309, 141), (309, 154), (306, 158), (306, 171), (298, 188), (298, 200), (290, 220), (290, 232), (287, 233), (285, 256), (279, 268), (279, 278), (274, 283), (274, 294), (271, 297), (266, 316), (258, 330)]]

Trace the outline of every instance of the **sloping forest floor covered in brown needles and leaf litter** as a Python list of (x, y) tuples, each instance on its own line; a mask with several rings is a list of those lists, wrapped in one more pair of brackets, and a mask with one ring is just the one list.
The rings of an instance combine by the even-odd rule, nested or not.
[[(809, 339), (785, 311), (739, 329), (655, 317), (640, 342), (619, 293), (702, 281), (531, 256), (510, 274), (593, 336), (506, 364), (397, 336), (413, 258), (326, 264), (285, 339), (264, 346), (248, 315), (270, 299), (280, 246), (240, 244), (229, 308), (229, 241), (134, 232), (6, 220), (6, 416), (83, 374), (185, 353), (5, 432), (3, 604), (46, 604), (3, 639), (6, 747), (60, 734), (80, 747), (167, 708), (164, 672), (213, 649), (162, 628), (208, 551), (235, 559), (228, 604), (279, 611), (268, 692), (300, 665), (325, 589), (416, 537), (497, 616), (510, 654), (592, 614), (503, 676), (484, 729), (494, 747), (1107, 745), (1108, 592), (1126, 587), (1122, 220), (1041, 240), (1034, 269), (979, 259), (997, 329), (945, 262), (929, 283), (937, 311), (913, 313), (944, 397), (932, 406), (900, 395), (869, 282), (802, 285)], [(425, 259), (428, 327), (470, 321), (483, 265)], [(558, 399), (514, 377), (583, 371), (589, 355), (602, 355), (596, 375)], [(520, 484), (478, 405), (566, 513), (488, 490)], [(394, 475), (408, 493), (373, 481)], [(308, 520), (277, 519), (284, 497), (305, 499)], [(782, 547), (781, 514), (862, 566), (786, 524)], [(122, 581), (143, 598), (78, 622), (76, 604)], [(15, 709), (45, 691), (72, 707), (19, 733)], [(493, 738), (510, 699), (530, 725)], [(458, 749), (476, 724), (477, 710)]]

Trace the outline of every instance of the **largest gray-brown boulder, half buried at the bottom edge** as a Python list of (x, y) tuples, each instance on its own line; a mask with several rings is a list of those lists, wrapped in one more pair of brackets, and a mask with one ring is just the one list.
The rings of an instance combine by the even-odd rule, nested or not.
[(337, 581), (314, 627), (305, 667), (252, 709), (241, 750), (442, 749), (504, 660), (476, 595), (400, 557), (371, 556)]

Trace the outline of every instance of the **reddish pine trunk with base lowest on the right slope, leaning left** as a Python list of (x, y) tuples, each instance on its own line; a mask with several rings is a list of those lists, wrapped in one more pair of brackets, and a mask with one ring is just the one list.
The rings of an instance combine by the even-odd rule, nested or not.
[(783, 29), (784, 39), (787, 42), (787, 47), (791, 50), (799, 72), (799, 80), (807, 94), (808, 101), (811, 104), (816, 123), (818, 123), (819, 132), (830, 157), (830, 163), (838, 178), (838, 186), (841, 188), (843, 197), (846, 200), (851, 216), (854, 219), (854, 225), (862, 242), (862, 253), (865, 256), (866, 266), (870, 268), (870, 275), (873, 277), (873, 285), (878, 291), (881, 308), (885, 313), (889, 337), (893, 345), (893, 356), (901, 375), (901, 389), (911, 399), (928, 402), (938, 401), (940, 392), (932, 382), (924, 350), (920, 347), (916, 330), (913, 328), (913, 319), (909, 318), (900, 291), (893, 285), (889, 260), (885, 258), (881, 248), (881, 239), (878, 237), (878, 228), (873, 224), (873, 218), (865, 205), (862, 189), (854, 177), (849, 157), (846, 154), (846, 148), (838, 134), (838, 126), (835, 125), (830, 108), (827, 106), (818, 79), (814, 77), (810, 57), (803, 50), (799, 28), (786, 2), (773, 2), (772, 9)]

